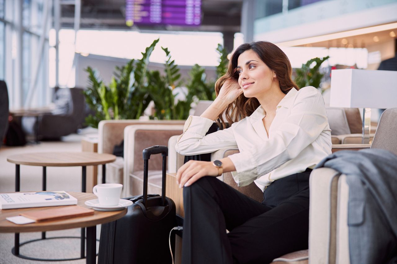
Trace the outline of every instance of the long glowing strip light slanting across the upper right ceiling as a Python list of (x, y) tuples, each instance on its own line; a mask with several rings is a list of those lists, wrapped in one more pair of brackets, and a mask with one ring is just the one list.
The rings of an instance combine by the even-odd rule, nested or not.
[(366, 27), (363, 29), (354, 29), (354, 30), (343, 31), (343, 32), (338, 32), (338, 33), (326, 34), (326, 35), (322, 35), (322, 36), (315, 36), (315, 37), (310, 37), (310, 38), (301, 38), (301, 39), (297, 39), (297, 40), (279, 42), (279, 43), (276, 43), (276, 45), (277, 46), (285, 46), (285, 47), (300, 46), (300, 45), (309, 44), (309, 43), (322, 42), (322, 41), (333, 40), (333, 39), (337, 39), (337, 38), (347, 38), (350, 36), (369, 34), (369, 33), (385, 31), (385, 30), (390, 30), (390, 29), (395, 29), (395, 28), (397, 28), (397, 22), (385, 24), (385, 25), (378, 25), (378, 26), (374, 26), (374, 27)]

